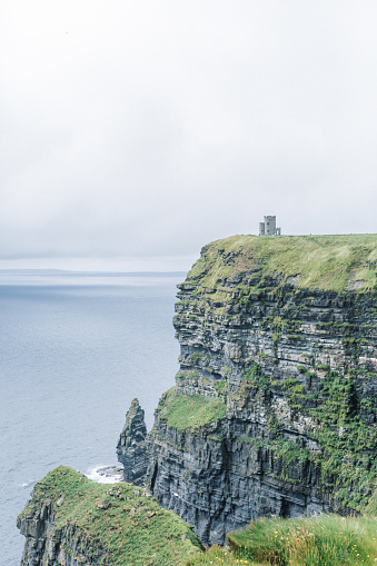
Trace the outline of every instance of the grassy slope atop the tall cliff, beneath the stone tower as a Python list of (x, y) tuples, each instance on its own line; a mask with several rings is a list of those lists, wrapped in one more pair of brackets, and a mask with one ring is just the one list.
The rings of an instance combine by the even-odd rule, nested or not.
[(205, 246), (186, 282), (216, 288), (225, 279), (267, 278), (298, 288), (366, 292), (377, 287), (377, 235), (232, 236)]

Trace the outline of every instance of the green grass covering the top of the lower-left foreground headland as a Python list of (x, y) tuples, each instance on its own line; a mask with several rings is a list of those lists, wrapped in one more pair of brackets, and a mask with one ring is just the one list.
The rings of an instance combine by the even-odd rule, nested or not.
[(47, 499), (53, 502), (53, 533), (77, 526), (93, 548), (100, 545), (106, 549), (108, 558), (103, 564), (180, 566), (201, 548), (181, 518), (130, 484), (96, 484), (60, 466), (36, 485), (21, 516), (32, 515)]

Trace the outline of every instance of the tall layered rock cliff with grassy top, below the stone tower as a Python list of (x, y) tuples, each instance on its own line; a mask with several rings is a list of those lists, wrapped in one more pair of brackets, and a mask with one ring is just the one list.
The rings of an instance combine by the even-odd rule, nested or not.
[(260, 516), (367, 504), (376, 266), (376, 236), (235, 237), (205, 247), (179, 286), (180, 370), (143, 440), (143, 479), (205, 543)]

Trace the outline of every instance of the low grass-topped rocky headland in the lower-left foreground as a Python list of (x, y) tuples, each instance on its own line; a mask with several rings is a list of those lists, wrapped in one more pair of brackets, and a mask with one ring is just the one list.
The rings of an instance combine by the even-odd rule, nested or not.
[(178, 566), (202, 548), (146, 489), (63, 466), (36, 485), (17, 526), (27, 539), (21, 566)]

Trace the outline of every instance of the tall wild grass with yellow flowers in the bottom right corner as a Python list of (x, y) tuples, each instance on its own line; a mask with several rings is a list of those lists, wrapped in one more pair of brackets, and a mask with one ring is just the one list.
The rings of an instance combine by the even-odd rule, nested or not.
[(311, 519), (261, 519), (228, 535), (190, 566), (371, 566), (377, 563), (377, 518), (321, 515)]

